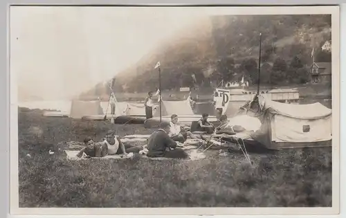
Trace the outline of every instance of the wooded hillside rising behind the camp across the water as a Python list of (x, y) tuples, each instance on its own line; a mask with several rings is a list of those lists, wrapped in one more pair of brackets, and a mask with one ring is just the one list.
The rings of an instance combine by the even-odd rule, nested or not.
[[(135, 66), (116, 75), (118, 92), (145, 92), (158, 87), (156, 62), (161, 62), (164, 89), (210, 87), (222, 79), (257, 83), (260, 33), (262, 33), (261, 83), (271, 85), (309, 82), (312, 63), (330, 62), (330, 15), (215, 16), (177, 33)], [(130, 54), (129, 54), (130, 55)], [(196, 81), (192, 78), (195, 75)], [(86, 96), (104, 96), (109, 89), (98, 84)]]

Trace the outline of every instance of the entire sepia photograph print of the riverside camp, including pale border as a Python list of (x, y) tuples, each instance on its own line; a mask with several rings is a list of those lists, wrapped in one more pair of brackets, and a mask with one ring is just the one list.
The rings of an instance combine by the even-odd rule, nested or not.
[(336, 206), (338, 7), (227, 8), (11, 6), (15, 207)]

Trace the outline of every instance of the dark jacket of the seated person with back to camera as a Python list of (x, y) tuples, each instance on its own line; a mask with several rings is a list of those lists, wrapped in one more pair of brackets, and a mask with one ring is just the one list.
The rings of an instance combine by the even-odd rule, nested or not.
[(176, 148), (176, 142), (163, 129), (158, 129), (149, 137), (147, 149), (149, 157), (165, 156), (168, 147)]

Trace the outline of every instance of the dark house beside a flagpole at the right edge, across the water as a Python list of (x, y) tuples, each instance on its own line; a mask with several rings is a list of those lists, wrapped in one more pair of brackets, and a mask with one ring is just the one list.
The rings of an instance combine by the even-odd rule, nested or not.
[(331, 82), (331, 62), (313, 62), (310, 73), (312, 83)]

